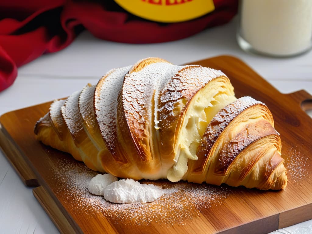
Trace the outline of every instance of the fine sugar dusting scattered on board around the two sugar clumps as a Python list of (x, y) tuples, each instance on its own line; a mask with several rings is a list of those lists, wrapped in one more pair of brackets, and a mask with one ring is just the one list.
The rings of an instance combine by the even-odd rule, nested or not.
[[(172, 183), (167, 180), (140, 181), (162, 187), (165, 194), (154, 202), (115, 204), (101, 196), (89, 193), (88, 184), (97, 172), (88, 169), (83, 163), (60, 159), (55, 178), (59, 181), (57, 197), (71, 207), (71, 213), (90, 217), (104, 216), (113, 223), (149, 225), (184, 225), (187, 220), (196, 219), (201, 210), (220, 205), (233, 193), (226, 186), (187, 182)], [(226, 188), (225, 188), (226, 187)]]

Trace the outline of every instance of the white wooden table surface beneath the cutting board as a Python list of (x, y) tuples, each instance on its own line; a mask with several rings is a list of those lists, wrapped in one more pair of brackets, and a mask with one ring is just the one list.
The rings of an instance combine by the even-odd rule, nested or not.
[[(160, 44), (123, 44), (99, 40), (83, 32), (66, 49), (45, 54), (18, 69), (15, 83), (0, 92), (0, 115), (96, 84), (108, 70), (157, 56), (183, 64), (218, 55), (245, 61), (282, 93), (305, 89), (312, 94), (312, 51), (276, 59), (247, 54), (236, 43), (236, 19), (192, 37)], [(252, 78), (251, 78), (252, 79)], [(312, 196), (312, 195), (311, 195)], [(0, 232), (59, 233), (0, 151)], [(312, 233), (312, 220), (275, 233)]]

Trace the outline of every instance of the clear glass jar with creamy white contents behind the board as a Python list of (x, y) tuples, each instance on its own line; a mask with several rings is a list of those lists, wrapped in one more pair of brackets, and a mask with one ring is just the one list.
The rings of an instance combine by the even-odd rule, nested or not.
[(302, 54), (312, 48), (312, 0), (241, 0), (236, 37), (245, 51)]

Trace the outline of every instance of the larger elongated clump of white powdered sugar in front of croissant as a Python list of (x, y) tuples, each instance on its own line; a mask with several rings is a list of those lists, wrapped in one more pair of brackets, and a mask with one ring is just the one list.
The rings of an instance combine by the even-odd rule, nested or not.
[(121, 179), (105, 188), (104, 198), (114, 203), (153, 202), (166, 191), (154, 184), (141, 184), (133, 179)]

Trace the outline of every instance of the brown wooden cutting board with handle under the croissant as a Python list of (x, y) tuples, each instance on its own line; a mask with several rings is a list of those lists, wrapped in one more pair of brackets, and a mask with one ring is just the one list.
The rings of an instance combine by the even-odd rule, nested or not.
[(6, 113), (0, 117), (0, 146), (23, 182), (37, 186), (34, 196), (61, 233), (268, 233), (312, 219), (312, 120), (303, 110), (312, 108), (312, 96), (304, 90), (281, 94), (234, 57), (190, 64), (222, 70), (236, 97), (250, 95), (268, 105), (282, 139), (287, 188), (142, 181), (171, 192), (143, 205), (111, 204), (87, 191), (96, 172), (35, 140), (34, 125), (50, 103)]

